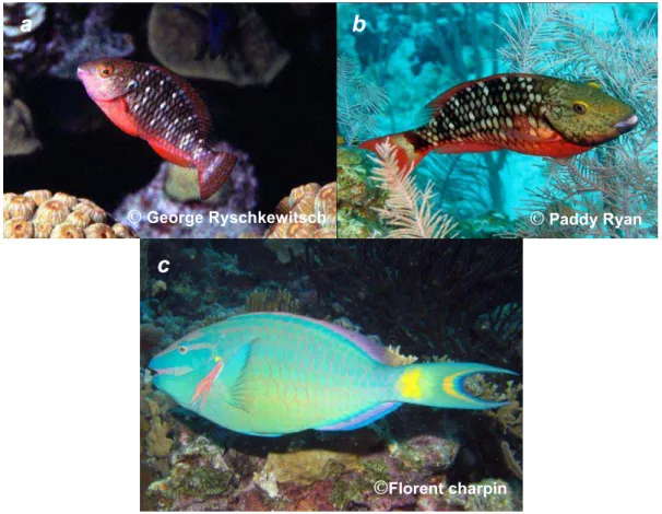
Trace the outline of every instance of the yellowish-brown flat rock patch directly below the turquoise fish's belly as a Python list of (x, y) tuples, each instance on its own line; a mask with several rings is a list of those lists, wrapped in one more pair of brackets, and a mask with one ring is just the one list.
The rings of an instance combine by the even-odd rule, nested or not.
[(328, 449), (300, 449), (285, 454), (270, 453), (262, 472), (275, 476), (277, 482), (310, 484), (350, 470), (358, 470), (358, 457)]

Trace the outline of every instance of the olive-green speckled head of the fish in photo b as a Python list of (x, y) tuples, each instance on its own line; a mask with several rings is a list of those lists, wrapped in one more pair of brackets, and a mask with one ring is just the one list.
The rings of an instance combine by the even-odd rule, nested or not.
[(571, 143), (596, 147), (637, 126), (635, 109), (606, 94), (600, 85), (552, 80), (545, 117)]

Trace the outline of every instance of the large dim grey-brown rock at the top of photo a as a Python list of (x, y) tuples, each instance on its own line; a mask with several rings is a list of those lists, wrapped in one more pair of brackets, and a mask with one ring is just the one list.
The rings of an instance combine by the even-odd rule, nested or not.
[(249, 4), (156, 4), (147, 38), (152, 54), (176, 73), (240, 86), (270, 84), (289, 61)]

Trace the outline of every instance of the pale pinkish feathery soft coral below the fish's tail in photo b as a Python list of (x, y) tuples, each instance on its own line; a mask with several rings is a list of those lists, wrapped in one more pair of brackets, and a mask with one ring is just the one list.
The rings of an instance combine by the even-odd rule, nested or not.
[(377, 145), (377, 157), (373, 178), (378, 187), (388, 191), (383, 209), (376, 209), (391, 227), (388, 237), (402, 238), (450, 238), (456, 237), (458, 224), (448, 214), (434, 208), (433, 185), (428, 182), (421, 191), (407, 170), (400, 170), (395, 159), (395, 147), (387, 139)]

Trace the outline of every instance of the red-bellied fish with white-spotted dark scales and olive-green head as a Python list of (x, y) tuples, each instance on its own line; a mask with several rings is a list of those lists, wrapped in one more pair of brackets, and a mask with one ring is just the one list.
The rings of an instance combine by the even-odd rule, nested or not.
[(529, 155), (569, 157), (633, 130), (635, 110), (600, 85), (552, 77), (508, 73), (457, 85), (426, 108), (417, 129), (371, 139), (376, 151), (387, 138), (401, 170), (411, 172), (430, 151), (438, 153), (512, 150)]

